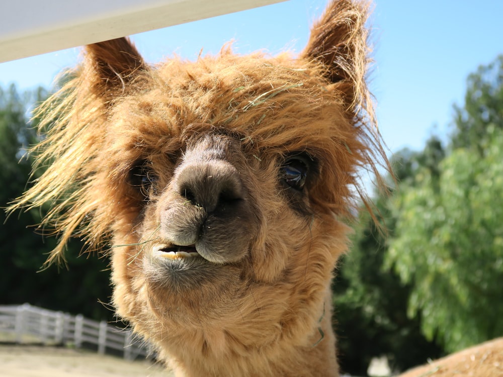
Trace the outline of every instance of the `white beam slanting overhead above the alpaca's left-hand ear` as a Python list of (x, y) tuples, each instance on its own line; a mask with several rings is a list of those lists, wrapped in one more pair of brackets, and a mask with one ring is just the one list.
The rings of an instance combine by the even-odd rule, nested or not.
[(0, 12), (0, 62), (282, 1), (7, 0)]

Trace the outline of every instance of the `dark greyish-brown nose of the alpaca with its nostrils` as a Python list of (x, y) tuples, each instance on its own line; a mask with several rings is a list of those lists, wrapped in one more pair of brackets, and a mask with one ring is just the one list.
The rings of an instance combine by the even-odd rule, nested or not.
[(189, 162), (180, 166), (176, 176), (177, 191), (187, 205), (203, 208), (206, 213), (223, 209), (243, 199), (239, 173), (224, 160)]

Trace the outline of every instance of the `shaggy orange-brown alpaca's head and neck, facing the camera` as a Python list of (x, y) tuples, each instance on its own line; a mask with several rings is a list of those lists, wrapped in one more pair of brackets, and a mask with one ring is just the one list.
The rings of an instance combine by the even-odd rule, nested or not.
[(359, 169), (385, 160), (365, 21), (331, 3), (299, 56), (227, 46), (149, 66), (127, 39), (97, 43), (45, 106), (52, 164), (17, 206), (58, 203), (53, 256), (75, 235), (112, 246), (119, 315), (180, 370), (286, 375), (316, 354), (336, 372), (342, 219)]

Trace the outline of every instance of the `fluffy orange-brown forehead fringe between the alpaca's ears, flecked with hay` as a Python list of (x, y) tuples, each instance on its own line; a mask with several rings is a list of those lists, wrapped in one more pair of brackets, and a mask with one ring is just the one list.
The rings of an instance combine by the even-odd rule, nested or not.
[(148, 135), (166, 142), (220, 129), (264, 153), (310, 150), (323, 160), (351, 151), (351, 165), (373, 164), (366, 153), (377, 149), (379, 136), (371, 103), (355, 113), (322, 71), (287, 53), (173, 59), (142, 77), (132, 96), (115, 100), (107, 128), (155, 150), (159, 143)]

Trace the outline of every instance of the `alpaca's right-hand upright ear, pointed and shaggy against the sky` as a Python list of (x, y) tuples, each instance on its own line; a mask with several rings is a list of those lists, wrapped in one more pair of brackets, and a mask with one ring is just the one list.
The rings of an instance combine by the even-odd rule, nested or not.
[[(337, 84), (334, 89), (346, 95), (353, 106), (364, 95), (368, 64), (368, 6), (359, 0), (332, 0), (321, 18), (311, 28), (311, 35), (301, 57), (323, 65), (323, 75)], [(365, 96), (365, 95), (364, 95)]]

